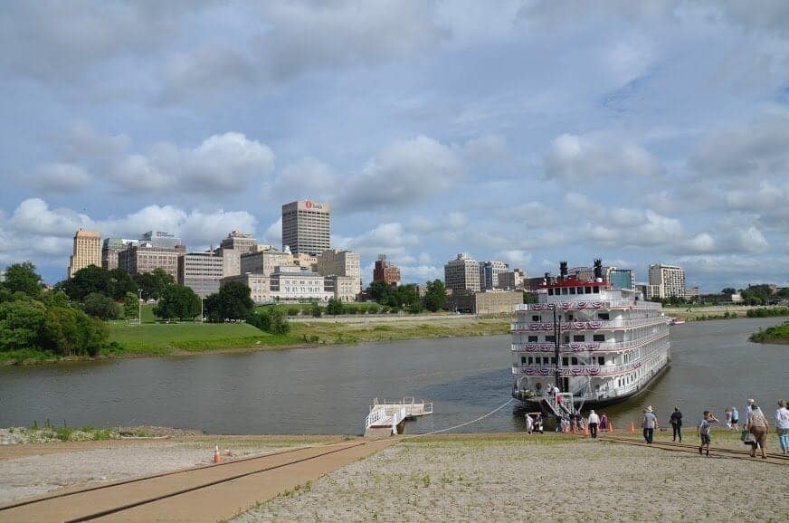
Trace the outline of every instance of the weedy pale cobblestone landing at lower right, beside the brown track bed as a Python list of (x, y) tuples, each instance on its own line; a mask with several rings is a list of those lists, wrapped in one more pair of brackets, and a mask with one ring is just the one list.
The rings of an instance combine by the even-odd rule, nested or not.
[(789, 473), (613, 443), (403, 442), (233, 519), (789, 520)]

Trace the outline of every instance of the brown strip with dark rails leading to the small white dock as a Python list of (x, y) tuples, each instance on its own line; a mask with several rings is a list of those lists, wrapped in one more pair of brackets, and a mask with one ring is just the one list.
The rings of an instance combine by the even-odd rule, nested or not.
[[(302, 447), (268, 456), (101, 485), (3, 509), (0, 521), (216, 521), (292, 490), (395, 440)], [(121, 511), (115, 511), (119, 508)]]

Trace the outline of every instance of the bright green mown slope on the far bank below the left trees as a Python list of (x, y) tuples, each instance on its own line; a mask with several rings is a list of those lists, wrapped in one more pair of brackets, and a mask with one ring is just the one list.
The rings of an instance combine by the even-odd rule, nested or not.
[(109, 341), (122, 351), (109, 354), (172, 354), (220, 348), (279, 347), (298, 341), (290, 336), (274, 336), (246, 323), (143, 323), (109, 324)]

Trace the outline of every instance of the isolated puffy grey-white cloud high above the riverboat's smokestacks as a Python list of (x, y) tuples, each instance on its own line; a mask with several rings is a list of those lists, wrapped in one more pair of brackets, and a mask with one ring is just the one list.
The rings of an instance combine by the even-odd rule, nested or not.
[(588, 185), (651, 178), (663, 172), (658, 159), (643, 147), (600, 134), (556, 138), (543, 166), (547, 179)]

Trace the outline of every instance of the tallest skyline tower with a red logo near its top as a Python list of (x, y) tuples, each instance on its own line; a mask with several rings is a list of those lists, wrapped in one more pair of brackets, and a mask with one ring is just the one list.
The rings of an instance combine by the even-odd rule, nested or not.
[(328, 250), (331, 229), (328, 204), (298, 200), (282, 205), (282, 250), (317, 256)]

